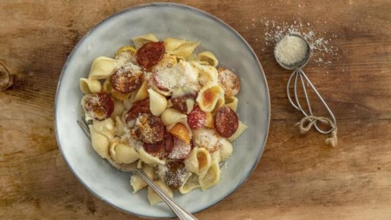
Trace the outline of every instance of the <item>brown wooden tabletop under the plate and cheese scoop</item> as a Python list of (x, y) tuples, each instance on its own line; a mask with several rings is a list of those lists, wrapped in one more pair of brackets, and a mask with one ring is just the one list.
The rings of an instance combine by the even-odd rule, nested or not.
[[(97, 22), (139, 3), (0, 0), (0, 60), (16, 74), (14, 86), (0, 92), (1, 219), (137, 219), (92, 196), (69, 171), (55, 139), (53, 104), (75, 44)], [(232, 196), (195, 216), (391, 219), (391, 1), (181, 3), (217, 16), (248, 41), (271, 96), (270, 133), (257, 169)], [(320, 36), (337, 35), (332, 44), (339, 56), (307, 67), (337, 117), (335, 149), (317, 132), (299, 134), (294, 124), (301, 114), (285, 94), (288, 71), (264, 39), (262, 19), (295, 18)]]

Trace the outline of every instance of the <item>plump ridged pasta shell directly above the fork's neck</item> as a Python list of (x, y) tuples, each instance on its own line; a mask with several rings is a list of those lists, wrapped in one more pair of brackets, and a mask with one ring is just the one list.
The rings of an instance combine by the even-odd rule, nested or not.
[(123, 143), (113, 142), (110, 146), (110, 156), (118, 163), (133, 163), (138, 159), (138, 154), (134, 147)]

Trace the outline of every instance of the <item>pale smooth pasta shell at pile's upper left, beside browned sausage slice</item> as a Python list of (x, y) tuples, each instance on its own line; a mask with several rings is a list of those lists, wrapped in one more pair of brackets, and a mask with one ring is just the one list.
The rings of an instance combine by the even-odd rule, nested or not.
[(98, 57), (92, 63), (89, 80), (107, 79), (117, 67), (117, 61), (109, 57)]

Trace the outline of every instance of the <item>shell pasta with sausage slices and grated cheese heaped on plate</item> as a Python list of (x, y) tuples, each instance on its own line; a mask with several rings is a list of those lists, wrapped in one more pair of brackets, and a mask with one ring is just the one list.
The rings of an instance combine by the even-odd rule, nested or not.
[[(136, 163), (168, 195), (217, 184), (219, 164), (246, 126), (237, 116), (240, 80), (200, 44), (153, 34), (114, 58), (98, 57), (79, 85), (92, 148), (120, 169)], [(147, 187), (130, 177), (133, 193)], [(148, 187), (151, 205), (162, 201)]]

